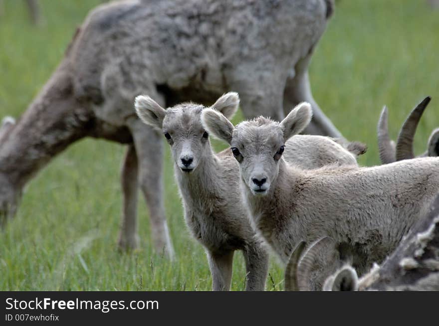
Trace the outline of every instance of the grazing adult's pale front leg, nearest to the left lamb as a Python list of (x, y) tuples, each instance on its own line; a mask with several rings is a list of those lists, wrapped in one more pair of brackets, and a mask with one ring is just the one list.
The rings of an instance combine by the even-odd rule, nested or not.
[(139, 160), (139, 184), (145, 196), (151, 221), (151, 233), (157, 252), (174, 259), (174, 248), (163, 204), (163, 144), (160, 134), (139, 119), (130, 122)]

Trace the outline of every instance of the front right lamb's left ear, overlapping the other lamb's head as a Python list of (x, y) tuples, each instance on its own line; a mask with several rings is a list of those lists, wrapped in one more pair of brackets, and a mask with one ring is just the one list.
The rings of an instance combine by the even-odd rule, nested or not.
[(209, 134), (227, 144), (231, 143), (234, 127), (221, 113), (209, 108), (204, 109), (201, 113), (201, 121)]

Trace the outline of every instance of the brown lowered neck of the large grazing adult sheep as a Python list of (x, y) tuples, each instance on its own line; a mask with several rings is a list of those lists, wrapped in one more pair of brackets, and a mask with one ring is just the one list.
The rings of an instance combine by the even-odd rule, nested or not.
[(90, 110), (74, 98), (61, 64), (0, 146), (0, 173), (23, 186), (69, 144), (86, 136)]

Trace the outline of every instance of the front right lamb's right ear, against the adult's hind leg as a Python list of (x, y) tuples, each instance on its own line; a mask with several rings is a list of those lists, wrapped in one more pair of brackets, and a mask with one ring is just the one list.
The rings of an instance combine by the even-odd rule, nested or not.
[(297, 135), (305, 129), (310, 123), (311, 118), (311, 104), (306, 102), (299, 103), (280, 123), (283, 128), (284, 141), (286, 142), (290, 137)]

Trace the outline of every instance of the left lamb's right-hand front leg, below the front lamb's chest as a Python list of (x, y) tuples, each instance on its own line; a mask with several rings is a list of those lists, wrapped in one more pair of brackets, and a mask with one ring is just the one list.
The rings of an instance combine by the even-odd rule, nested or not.
[(264, 246), (255, 241), (247, 245), (243, 252), (247, 282), (245, 291), (264, 291), (268, 273), (268, 253)]

